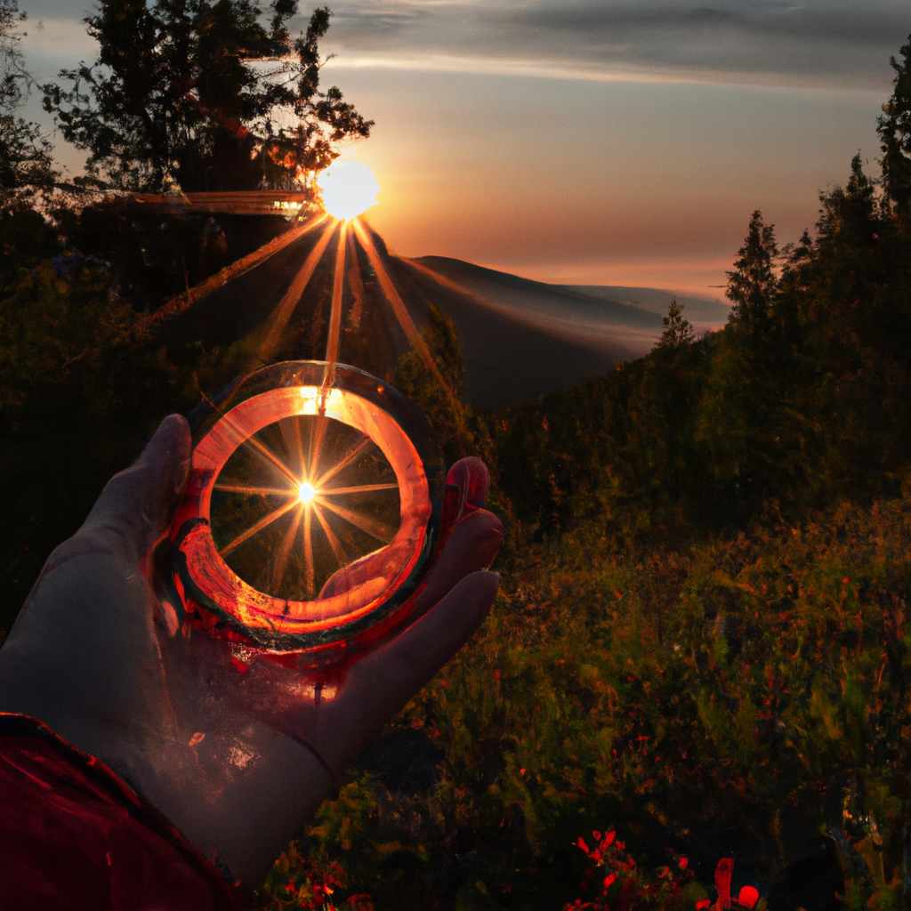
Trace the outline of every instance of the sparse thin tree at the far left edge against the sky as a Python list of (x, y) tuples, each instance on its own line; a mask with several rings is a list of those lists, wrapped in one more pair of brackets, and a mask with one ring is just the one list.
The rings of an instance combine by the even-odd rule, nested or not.
[(0, 0), (0, 205), (26, 188), (49, 187), (57, 177), (50, 142), (37, 124), (17, 115), (30, 81), (17, 31), (25, 18), (15, 0)]

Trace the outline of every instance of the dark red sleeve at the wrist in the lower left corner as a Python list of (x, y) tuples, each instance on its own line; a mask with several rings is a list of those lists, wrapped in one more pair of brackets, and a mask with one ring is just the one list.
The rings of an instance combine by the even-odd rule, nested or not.
[(0, 909), (239, 911), (239, 896), (104, 763), (0, 713)]

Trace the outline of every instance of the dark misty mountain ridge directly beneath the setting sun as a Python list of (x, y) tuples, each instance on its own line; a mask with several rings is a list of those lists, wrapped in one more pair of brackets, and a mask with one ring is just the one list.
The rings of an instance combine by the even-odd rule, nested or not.
[[(285, 342), (268, 354), (260, 348), (261, 359), (321, 358), (332, 297), (335, 241), (325, 249), (300, 299), (285, 299), (318, 237), (313, 231), (292, 240), (267, 260), (186, 306), (163, 327), (165, 340), (189, 339), (206, 348), (225, 347), (245, 338), (255, 341), (281, 322)], [(414, 322), (421, 326), (428, 305), (435, 303), (455, 323), (466, 367), (463, 392), (478, 410), (534, 401), (541, 394), (609, 373), (616, 363), (648, 353), (660, 336), (661, 313), (667, 310), (666, 306), (660, 308), (660, 295), (666, 292), (622, 289), (640, 295), (643, 304), (637, 305), (602, 293), (607, 289), (599, 286), (550, 285), (445, 257), (405, 259), (389, 252), (379, 235), (372, 233), (372, 237)], [(340, 358), (383, 375), (407, 350), (407, 340), (363, 251), (358, 253), (361, 281), (354, 285), (351, 262), (349, 259), (346, 267), (349, 281), (344, 292)], [(355, 286), (360, 290), (354, 291)], [(356, 302), (359, 295), (362, 303)], [(670, 303), (670, 294), (667, 297)], [(698, 303), (712, 306), (708, 301)], [(356, 320), (355, 312), (359, 314)], [(251, 369), (255, 365), (255, 361), (249, 363)]]

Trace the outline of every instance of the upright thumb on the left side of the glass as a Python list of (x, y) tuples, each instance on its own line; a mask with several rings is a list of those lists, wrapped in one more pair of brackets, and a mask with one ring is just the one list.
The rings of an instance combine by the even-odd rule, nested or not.
[(107, 482), (83, 526), (56, 548), (42, 575), (84, 554), (138, 563), (168, 528), (187, 483), (189, 456), (189, 425), (181, 415), (169, 415), (138, 459)]

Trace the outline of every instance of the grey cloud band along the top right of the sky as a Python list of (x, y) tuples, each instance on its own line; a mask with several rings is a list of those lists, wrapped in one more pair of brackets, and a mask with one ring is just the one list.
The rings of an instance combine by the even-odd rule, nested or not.
[[(896, 0), (347, 0), (341, 65), (621, 74), (881, 87), (911, 30)], [(456, 64), (455, 61), (461, 61)]]

